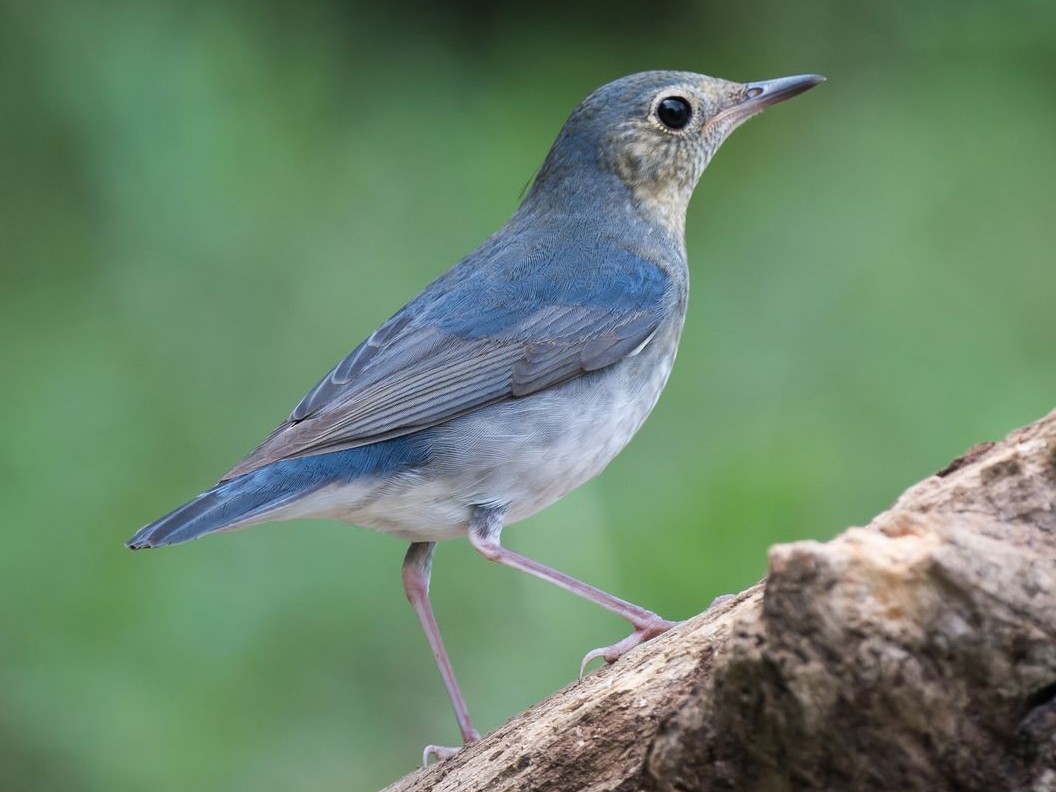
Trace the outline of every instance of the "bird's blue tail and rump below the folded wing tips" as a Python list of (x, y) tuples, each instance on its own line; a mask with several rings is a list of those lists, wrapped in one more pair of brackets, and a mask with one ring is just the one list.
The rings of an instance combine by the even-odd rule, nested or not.
[(133, 550), (178, 545), (225, 528), (266, 522), (268, 515), (329, 484), (418, 467), (427, 459), (425, 445), (410, 435), (267, 465), (222, 482), (145, 525), (126, 545)]

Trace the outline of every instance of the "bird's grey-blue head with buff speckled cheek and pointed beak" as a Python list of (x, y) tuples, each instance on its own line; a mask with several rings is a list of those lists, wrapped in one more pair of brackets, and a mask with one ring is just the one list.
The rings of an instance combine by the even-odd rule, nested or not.
[(583, 200), (615, 175), (647, 216), (681, 234), (693, 189), (730, 133), (823, 79), (805, 74), (742, 83), (642, 72), (609, 82), (569, 116), (529, 199)]

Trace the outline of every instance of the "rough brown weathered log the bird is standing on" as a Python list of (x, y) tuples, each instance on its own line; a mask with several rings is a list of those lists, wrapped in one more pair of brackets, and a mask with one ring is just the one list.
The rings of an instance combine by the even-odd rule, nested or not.
[(1056, 790), (1056, 412), (411, 790)]

